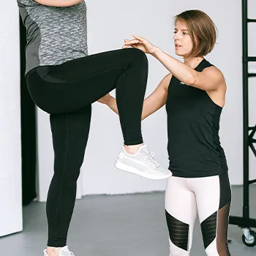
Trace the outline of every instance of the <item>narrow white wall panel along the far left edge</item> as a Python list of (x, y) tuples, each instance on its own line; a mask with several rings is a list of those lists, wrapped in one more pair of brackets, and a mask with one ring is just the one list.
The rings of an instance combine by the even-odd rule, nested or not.
[(15, 1), (6, 1), (0, 10), (0, 34), (0, 236), (5, 236), (22, 230), (20, 48)]

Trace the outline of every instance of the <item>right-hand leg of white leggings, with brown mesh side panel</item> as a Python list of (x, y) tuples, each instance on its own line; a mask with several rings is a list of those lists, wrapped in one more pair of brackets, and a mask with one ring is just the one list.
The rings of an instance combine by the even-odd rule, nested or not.
[(227, 227), (231, 200), (227, 174), (190, 178), (189, 187), (195, 192), (207, 255), (216, 255), (221, 251), (227, 253)]

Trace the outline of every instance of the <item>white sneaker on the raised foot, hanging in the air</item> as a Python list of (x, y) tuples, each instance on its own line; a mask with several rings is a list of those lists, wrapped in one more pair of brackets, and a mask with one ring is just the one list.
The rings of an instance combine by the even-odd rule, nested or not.
[(146, 145), (140, 146), (137, 154), (128, 154), (124, 146), (122, 146), (115, 167), (119, 170), (154, 180), (172, 176), (170, 170), (166, 170), (154, 160), (154, 153), (149, 153)]

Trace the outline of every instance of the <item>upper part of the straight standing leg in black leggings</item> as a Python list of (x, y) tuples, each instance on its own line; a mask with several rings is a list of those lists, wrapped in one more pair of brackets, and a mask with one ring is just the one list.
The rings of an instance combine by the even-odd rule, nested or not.
[(91, 105), (73, 113), (50, 115), (54, 174), (75, 182), (83, 164), (91, 123)]

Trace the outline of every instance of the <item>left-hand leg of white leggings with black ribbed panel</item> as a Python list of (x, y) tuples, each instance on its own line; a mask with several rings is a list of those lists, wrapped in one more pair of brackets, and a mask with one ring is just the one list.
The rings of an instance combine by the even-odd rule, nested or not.
[(170, 177), (165, 192), (165, 214), (171, 255), (188, 255), (197, 215), (195, 194), (186, 178)]

